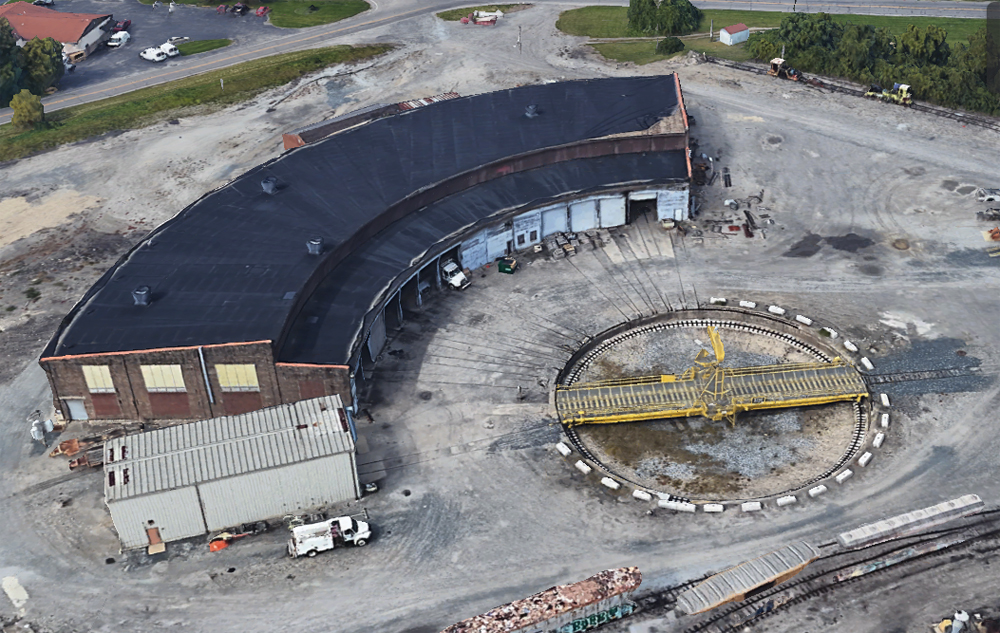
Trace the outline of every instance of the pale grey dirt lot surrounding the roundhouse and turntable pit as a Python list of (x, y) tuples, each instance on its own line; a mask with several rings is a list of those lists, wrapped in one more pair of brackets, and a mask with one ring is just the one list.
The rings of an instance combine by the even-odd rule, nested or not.
[[(558, 34), (556, 13), (536, 7), (496, 29), (420, 18), (373, 31), (367, 41), (405, 46), (369, 71), (310, 84), (275, 112), (268, 104), (287, 91), (0, 167), (0, 226), (19, 236), (0, 244), (0, 577), (18, 579), (27, 596), (0, 597), (6, 621), (23, 614), (53, 631), (428, 633), (606, 567), (639, 564), (653, 589), (967, 492), (995, 503), (1000, 277), (966, 187), (996, 177), (996, 138), (693, 60), (616, 68)], [(606, 267), (601, 251), (527, 258), (514, 277), (477, 271), (468, 291), (409, 315), (379, 365), (373, 421), (363, 424), (371, 452), (362, 470), (385, 475), (364, 502), (378, 530), (364, 550), (291, 561), (271, 533), (217, 554), (192, 544), (157, 560), (122, 557), (100, 478), (68, 478), (65, 462), (28, 442), (22, 420), (48, 397), (33, 361), (58, 319), (146, 231), (276, 156), (282, 131), (448, 90), (673, 70), (702, 151), (733, 174), (732, 189), (702, 192), (705, 217), (725, 217), (722, 202), (734, 193), (766, 189), (775, 224), (747, 239), (706, 223), (701, 237), (672, 234), (669, 255), (659, 250), (642, 264)], [(640, 265), (647, 281), (624, 281)], [(649, 303), (656, 294), (688, 307), (709, 296), (775, 302), (838, 327), (879, 367), (965, 363), (982, 374), (888, 385), (898, 414), (884, 450), (825, 498), (753, 516), (650, 513), (579, 475), (553, 448), (559, 430), (547, 394), (556, 371), (581, 333), (622, 318), (593, 301), (594, 285), (646, 313), (662, 309)], [(939, 593), (944, 585), (935, 574), (872, 594), (865, 608), (883, 622), (908, 604), (925, 605), (927, 617), (947, 614), (954, 601)], [(992, 604), (996, 590), (983, 576), (963, 605)], [(786, 620), (788, 630), (872, 628), (853, 602), (823, 609), (807, 624)], [(923, 630), (925, 620), (895, 630)]]

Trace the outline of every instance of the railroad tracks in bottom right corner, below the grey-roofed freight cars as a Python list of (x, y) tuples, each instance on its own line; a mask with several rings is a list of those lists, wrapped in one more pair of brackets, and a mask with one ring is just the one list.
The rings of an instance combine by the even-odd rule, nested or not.
[[(832, 566), (762, 591), (743, 602), (722, 605), (700, 616), (694, 616), (703, 619), (684, 629), (684, 633), (744, 631), (788, 607), (840, 589), (848, 584), (884, 574), (889, 569), (898, 570), (901, 566), (917, 561), (926, 561), (968, 548), (976, 543), (998, 539), (1000, 538), (1000, 517), (997, 516), (997, 512), (997, 510), (991, 510), (974, 515), (963, 520), (960, 525), (950, 528), (901, 537), (860, 550), (840, 550), (827, 554), (812, 563), (812, 567), (824, 563), (829, 565), (833, 562)], [(863, 575), (848, 578), (838, 577), (838, 574), (848, 570), (866, 564), (883, 562), (891, 555), (905, 553), (906, 550), (914, 550), (916, 553), (892, 564), (872, 568)], [(676, 604), (676, 599), (674, 604)]]

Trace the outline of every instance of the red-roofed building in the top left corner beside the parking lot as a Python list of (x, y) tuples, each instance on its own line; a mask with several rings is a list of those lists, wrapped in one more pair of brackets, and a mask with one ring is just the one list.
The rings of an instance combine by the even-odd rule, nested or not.
[(0, 5), (0, 18), (7, 18), (18, 46), (36, 37), (62, 42), (67, 55), (85, 56), (111, 36), (112, 16), (96, 13), (63, 13), (27, 2)]

